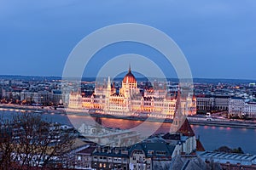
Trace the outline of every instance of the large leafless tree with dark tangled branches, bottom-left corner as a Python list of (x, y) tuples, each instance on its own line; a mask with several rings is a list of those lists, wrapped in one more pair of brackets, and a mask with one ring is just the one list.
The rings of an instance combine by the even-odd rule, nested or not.
[[(75, 134), (61, 128), (59, 124), (44, 121), (33, 114), (15, 115), (12, 122), (3, 123), (5, 133), (0, 144), (1, 169), (7, 165), (19, 169), (32, 167), (56, 167), (66, 162), (67, 151), (72, 149)], [(11, 128), (8, 132), (8, 128)], [(64, 157), (65, 156), (65, 157)]]

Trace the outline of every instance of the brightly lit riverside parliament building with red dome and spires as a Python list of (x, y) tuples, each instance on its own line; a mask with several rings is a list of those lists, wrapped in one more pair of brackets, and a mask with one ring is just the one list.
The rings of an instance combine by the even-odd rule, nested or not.
[[(173, 118), (177, 105), (177, 93), (168, 94), (166, 89), (145, 89), (143, 93), (137, 87), (137, 79), (128, 73), (122, 80), (122, 86), (117, 90), (111, 86), (108, 77), (108, 85), (105, 88), (95, 87), (94, 94), (83, 96), (80, 93), (69, 95), (69, 109), (80, 109), (83, 111), (96, 111), (104, 114), (124, 116), (160, 116)], [(189, 94), (183, 99), (185, 115), (196, 114), (196, 99), (194, 94)]]

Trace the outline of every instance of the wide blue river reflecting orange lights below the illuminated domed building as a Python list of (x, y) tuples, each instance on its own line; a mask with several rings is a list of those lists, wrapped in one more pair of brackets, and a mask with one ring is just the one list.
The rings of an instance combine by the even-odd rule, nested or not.
[[(20, 110), (1, 110), (1, 118), (10, 118)], [(22, 113), (22, 112), (21, 112)], [(67, 125), (79, 127), (81, 123), (94, 125), (95, 122), (90, 116), (65, 115), (54, 113), (43, 113), (43, 118), (49, 122), (60, 122)], [(160, 122), (142, 122), (113, 118), (101, 118), (104, 127), (119, 127), (121, 129), (131, 129), (140, 125), (141, 133), (147, 133), (152, 128), (157, 129), (155, 133), (167, 133), (170, 130), (171, 123)], [(210, 127), (192, 125), (196, 136), (200, 136), (201, 143), (206, 150), (215, 150), (218, 147), (226, 145), (231, 148), (241, 147), (245, 153), (256, 155), (256, 129), (233, 128), (233, 127)]]

